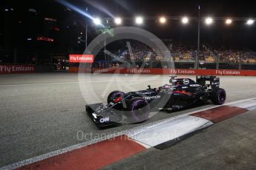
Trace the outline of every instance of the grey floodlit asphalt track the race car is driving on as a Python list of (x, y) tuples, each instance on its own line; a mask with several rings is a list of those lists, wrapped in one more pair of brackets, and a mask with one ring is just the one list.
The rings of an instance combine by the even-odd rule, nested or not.
[[(145, 89), (148, 84), (152, 87), (168, 84), (168, 75), (83, 74), (79, 77), (76, 73), (67, 72), (0, 75), (0, 167), (140, 126), (143, 123), (99, 130), (86, 115), (85, 103), (106, 101), (108, 93), (114, 89), (128, 92)], [(226, 102), (256, 96), (255, 77), (221, 76), (220, 86), (226, 89)], [(180, 112), (159, 112), (144, 123), (209, 106), (212, 104)], [(82, 132), (84, 137), (77, 137), (78, 132)], [(128, 162), (122, 163), (127, 165), (125, 163)], [(136, 165), (141, 168), (143, 164), (131, 167)]]

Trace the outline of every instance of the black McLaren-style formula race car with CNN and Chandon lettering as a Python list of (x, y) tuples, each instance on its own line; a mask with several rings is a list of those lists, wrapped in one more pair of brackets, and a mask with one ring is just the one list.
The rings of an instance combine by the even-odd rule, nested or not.
[(88, 115), (99, 128), (119, 123), (140, 123), (149, 118), (152, 111), (183, 109), (199, 101), (211, 101), (221, 105), (226, 101), (226, 91), (221, 89), (220, 78), (197, 76), (190, 78), (171, 76), (170, 84), (137, 92), (114, 91), (108, 95), (108, 104), (85, 106)]

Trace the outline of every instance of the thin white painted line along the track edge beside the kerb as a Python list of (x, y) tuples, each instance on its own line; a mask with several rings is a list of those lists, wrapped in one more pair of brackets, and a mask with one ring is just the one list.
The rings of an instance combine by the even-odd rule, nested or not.
[[(224, 106), (225, 105), (229, 106), (230, 104), (240, 103), (240, 102), (243, 102), (243, 101), (251, 101), (251, 100), (255, 100), (255, 99), (256, 98), (249, 98), (249, 99), (245, 99), (245, 100), (241, 100), (241, 101), (234, 101), (234, 102), (226, 103), (226, 104), (224, 104)], [(36, 156), (36, 157), (31, 157), (27, 160), (22, 160), (22, 161), (12, 163), (12, 164), (7, 165), (7, 166), (3, 166), (0, 169), (16, 169), (16, 168), (19, 168), (21, 166), (24, 166), (24, 165), (27, 165), (27, 164), (30, 164), (30, 163), (35, 163), (39, 160), (45, 160), (48, 157), (53, 157), (53, 156), (56, 156), (58, 154), (63, 154), (65, 152), (70, 152), (70, 151), (73, 151), (74, 149), (79, 149), (79, 148), (82, 148), (84, 146), (91, 145), (93, 143), (98, 143), (102, 140), (108, 140), (110, 138), (117, 137), (119, 135), (127, 135), (128, 137), (132, 137), (132, 136), (137, 135), (140, 132), (144, 131), (145, 129), (151, 128), (151, 126), (154, 126), (156, 124), (165, 123), (168, 120), (172, 120), (172, 119), (175, 119), (175, 118), (180, 118), (180, 117), (183, 117), (184, 115), (191, 115), (195, 112), (202, 112), (202, 111), (217, 108), (217, 107), (220, 107), (220, 106), (223, 106), (223, 105), (210, 106), (210, 107), (205, 108), (205, 109), (199, 109), (199, 110), (196, 110), (196, 111), (193, 111), (193, 112), (187, 112), (187, 113), (184, 113), (182, 115), (177, 115), (177, 116), (174, 116), (174, 117), (171, 117), (171, 118), (166, 118), (166, 119), (163, 119), (163, 120), (157, 120), (157, 121), (154, 121), (154, 122), (142, 125), (142, 126), (134, 127), (132, 129), (127, 129), (127, 130), (124, 130), (124, 131), (121, 131), (121, 132), (116, 132), (116, 133), (113, 133), (113, 134), (110, 134), (110, 135), (106, 135), (107, 137), (102, 137), (102, 138), (99, 138), (99, 139), (96, 139), (96, 140), (86, 141), (84, 143), (79, 143), (79, 144), (76, 144), (76, 145), (73, 145), (73, 146), (68, 146), (64, 149), (59, 149), (59, 150), (56, 150), (56, 151), (53, 151), (53, 152), (49, 152), (47, 154), (42, 154), (42, 155), (39, 155), (39, 156)]]

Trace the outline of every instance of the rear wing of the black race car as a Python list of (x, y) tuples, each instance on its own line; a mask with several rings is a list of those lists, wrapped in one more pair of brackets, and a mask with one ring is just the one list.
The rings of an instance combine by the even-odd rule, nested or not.
[[(209, 81), (209, 84), (206, 84), (206, 82)], [(208, 86), (211, 89), (219, 88), (220, 87), (220, 78), (217, 78), (216, 76), (197, 76), (197, 84), (200, 84), (201, 86)]]

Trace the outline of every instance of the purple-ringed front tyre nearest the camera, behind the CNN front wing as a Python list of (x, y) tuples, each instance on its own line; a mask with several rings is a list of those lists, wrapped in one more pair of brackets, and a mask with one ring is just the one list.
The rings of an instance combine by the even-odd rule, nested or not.
[(136, 97), (128, 101), (128, 109), (131, 110), (131, 113), (126, 113), (127, 119), (126, 123), (140, 123), (145, 120), (148, 120), (150, 113), (150, 106), (148, 101), (144, 98)]

